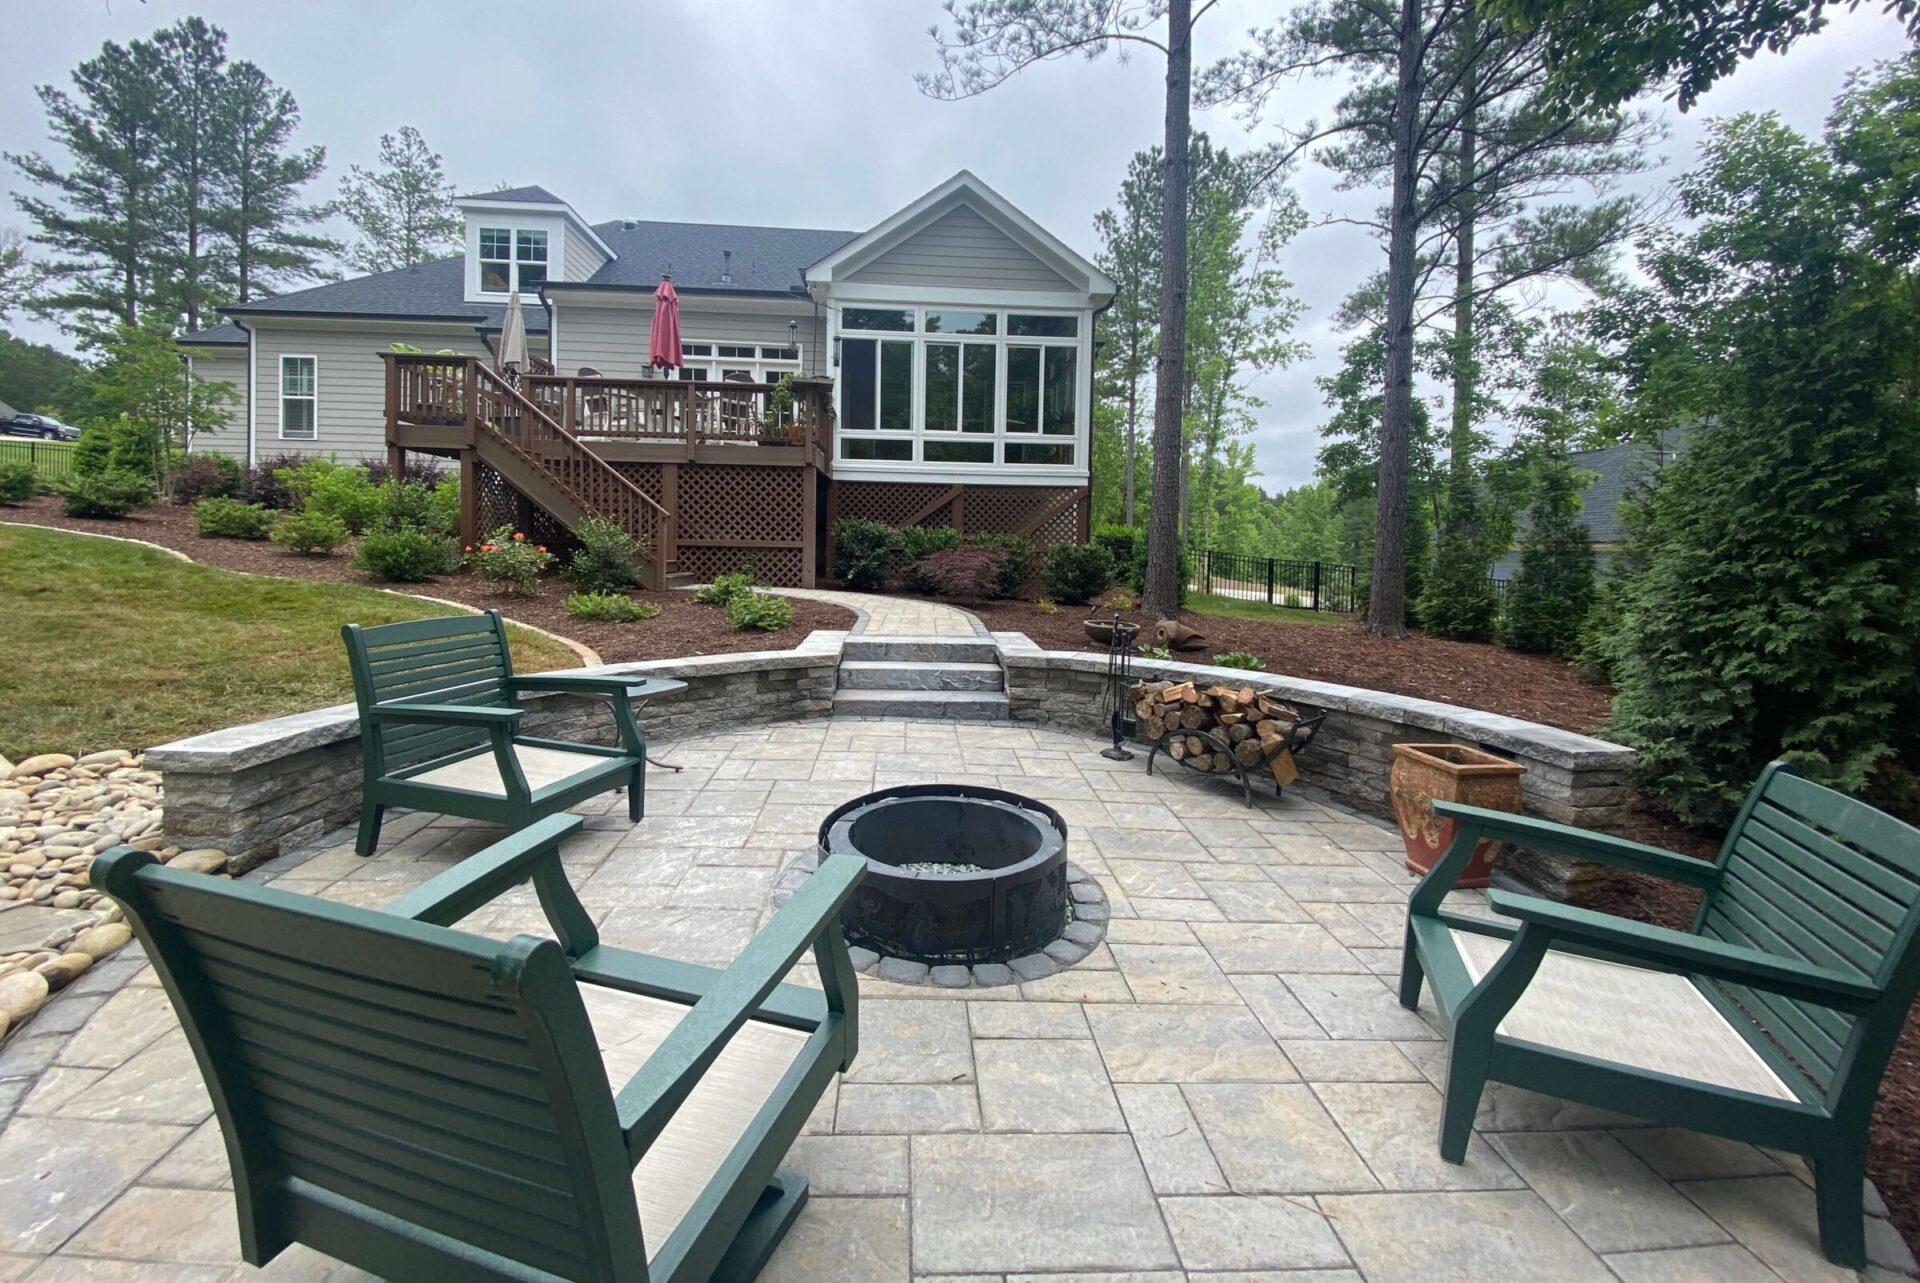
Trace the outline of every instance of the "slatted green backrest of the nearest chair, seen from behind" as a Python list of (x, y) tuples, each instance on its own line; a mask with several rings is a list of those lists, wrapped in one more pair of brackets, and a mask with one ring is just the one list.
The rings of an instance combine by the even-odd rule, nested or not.
[(215, 1097), (242, 1222), (263, 1239), (319, 1187), (369, 1233), (399, 1222), (564, 1279), (645, 1277), (612, 1093), (557, 945), (136, 853), (108, 864)]

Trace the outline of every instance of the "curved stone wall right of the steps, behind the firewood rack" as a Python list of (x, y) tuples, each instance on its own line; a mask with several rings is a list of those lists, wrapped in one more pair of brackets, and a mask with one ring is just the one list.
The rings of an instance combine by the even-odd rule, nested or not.
[[(1031, 642), (1020, 645), (1006, 634), (998, 634), (996, 640), (1006, 665), (1010, 714), (1016, 722), (1092, 734), (1106, 730), (1100, 722), (1106, 657), (1087, 651), (1043, 651)], [(1332, 716), (1300, 757), (1300, 778), (1334, 801), (1367, 814), (1392, 818), (1386, 801), (1392, 745), (1425, 741), (1471, 743), (1523, 763), (1526, 766), (1523, 805), (1528, 814), (1605, 832), (1619, 832), (1626, 824), (1634, 751), (1605, 739), (1432, 699), (1271, 672), (1142, 659), (1135, 663), (1135, 674), (1144, 680), (1254, 686), (1283, 699), (1329, 709)], [(1517, 882), (1551, 891), (1565, 891), (1594, 872), (1592, 866), (1530, 851), (1515, 853), (1503, 866)]]

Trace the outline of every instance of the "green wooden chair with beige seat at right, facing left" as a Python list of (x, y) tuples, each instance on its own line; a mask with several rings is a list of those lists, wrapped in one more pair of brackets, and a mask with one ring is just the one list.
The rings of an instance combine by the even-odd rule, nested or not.
[[(1920, 989), (1920, 830), (1774, 763), (1713, 864), (1590, 830), (1459, 820), (1407, 910), (1400, 1003), (1430, 978), (1452, 1031), (1440, 1156), (1488, 1081), (1812, 1162), (1820, 1245), (1866, 1264), (1866, 1124)], [(1482, 837), (1703, 889), (1692, 932), (1490, 891), (1519, 928), (1444, 910)]]

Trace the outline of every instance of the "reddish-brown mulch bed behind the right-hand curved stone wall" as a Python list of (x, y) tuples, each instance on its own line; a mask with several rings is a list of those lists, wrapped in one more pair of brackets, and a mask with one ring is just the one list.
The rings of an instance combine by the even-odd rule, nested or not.
[[(1089, 642), (1081, 628), (1081, 620), (1089, 615), (1085, 607), (1064, 605), (1054, 615), (1041, 615), (1031, 601), (985, 601), (966, 609), (979, 615), (989, 628), (1023, 632), (1050, 651), (1106, 653), (1106, 647)], [(1112, 615), (1100, 611), (1102, 618)], [(1154, 624), (1139, 611), (1123, 611), (1121, 618), (1148, 630)], [(1183, 613), (1181, 620), (1206, 634), (1206, 649), (1179, 659), (1202, 665), (1213, 655), (1248, 651), (1260, 655), (1271, 672), (1284, 672), (1290, 678), (1438, 699), (1580, 732), (1607, 716), (1613, 699), (1613, 691), (1584, 680), (1565, 661), (1521, 655), (1498, 645), (1444, 642), (1417, 632), (1405, 642), (1386, 642), (1367, 636), (1359, 624), (1348, 620), (1302, 624), (1190, 611)]]

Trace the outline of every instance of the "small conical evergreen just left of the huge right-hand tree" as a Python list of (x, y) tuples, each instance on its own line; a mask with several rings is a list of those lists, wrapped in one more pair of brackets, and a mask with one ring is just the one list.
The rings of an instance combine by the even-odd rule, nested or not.
[(1580, 524), (1584, 482), (1565, 449), (1542, 448), (1530, 471), (1532, 505), (1501, 640), (1517, 651), (1572, 659), (1594, 605), (1594, 545)]

